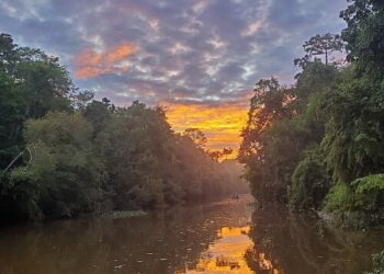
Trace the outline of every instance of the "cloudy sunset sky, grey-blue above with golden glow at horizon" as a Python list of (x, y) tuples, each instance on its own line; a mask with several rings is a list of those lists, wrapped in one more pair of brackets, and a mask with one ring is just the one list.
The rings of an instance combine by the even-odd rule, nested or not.
[(1, 0), (0, 32), (58, 56), (116, 105), (165, 105), (177, 132), (237, 148), (260, 78), (291, 83), (302, 44), (343, 27), (346, 0)]

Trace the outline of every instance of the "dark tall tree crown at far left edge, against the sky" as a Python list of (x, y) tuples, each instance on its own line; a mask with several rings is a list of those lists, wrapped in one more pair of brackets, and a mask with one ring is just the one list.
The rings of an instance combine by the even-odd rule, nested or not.
[(70, 111), (71, 96), (75, 89), (57, 58), (19, 47), (10, 35), (0, 34), (1, 170), (24, 149), (24, 122), (49, 111)]

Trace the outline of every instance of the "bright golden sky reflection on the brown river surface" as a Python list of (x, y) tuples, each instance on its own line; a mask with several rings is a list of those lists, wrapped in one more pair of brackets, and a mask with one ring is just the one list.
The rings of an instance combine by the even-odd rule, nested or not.
[(195, 269), (187, 269), (184, 273), (255, 273), (245, 260), (247, 252), (258, 262), (260, 270), (278, 274), (263, 253), (255, 252), (253, 242), (248, 237), (249, 230), (249, 226), (222, 227), (217, 239), (201, 253)]

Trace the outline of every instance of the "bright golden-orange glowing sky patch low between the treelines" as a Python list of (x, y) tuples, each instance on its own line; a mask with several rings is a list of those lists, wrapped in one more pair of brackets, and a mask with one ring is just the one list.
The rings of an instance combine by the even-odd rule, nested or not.
[(207, 148), (218, 150), (230, 147), (235, 157), (241, 141), (240, 132), (247, 122), (248, 100), (219, 105), (199, 103), (163, 103), (167, 118), (177, 133), (193, 127), (207, 137)]

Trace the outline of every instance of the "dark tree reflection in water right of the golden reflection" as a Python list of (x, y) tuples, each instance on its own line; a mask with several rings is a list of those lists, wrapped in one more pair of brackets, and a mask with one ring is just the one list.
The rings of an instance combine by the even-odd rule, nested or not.
[(252, 216), (255, 250), (246, 258), (257, 273), (263, 273), (255, 260), (261, 253), (276, 273), (362, 273), (370, 266), (370, 254), (382, 248), (383, 233), (329, 228), (314, 217), (271, 207)]

